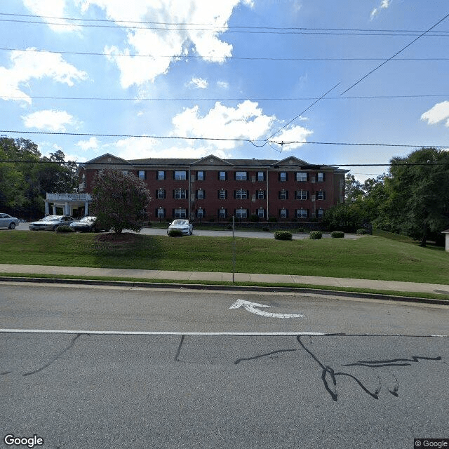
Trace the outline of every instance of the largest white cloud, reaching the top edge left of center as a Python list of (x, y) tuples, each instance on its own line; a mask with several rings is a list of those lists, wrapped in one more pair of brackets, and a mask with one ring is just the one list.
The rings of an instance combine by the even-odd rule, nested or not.
[[(156, 76), (168, 72), (171, 62), (190, 51), (210, 62), (222, 63), (232, 55), (232, 45), (220, 41), (218, 36), (227, 29), (233, 9), (243, 3), (253, 6), (252, 0), (140, 0), (130, 8), (123, 0), (77, 0), (82, 11), (89, 6), (105, 10), (107, 18), (127, 29), (126, 48), (105, 46), (109, 60), (121, 72), (121, 86), (128, 88), (154, 81)], [(126, 28), (123, 20), (173, 22), (189, 25), (172, 26), (170, 30)], [(122, 22), (120, 22), (122, 21)], [(135, 25), (135, 24), (133, 24)], [(131, 26), (131, 25), (130, 25)], [(151, 55), (152, 57), (121, 57), (114, 53)]]

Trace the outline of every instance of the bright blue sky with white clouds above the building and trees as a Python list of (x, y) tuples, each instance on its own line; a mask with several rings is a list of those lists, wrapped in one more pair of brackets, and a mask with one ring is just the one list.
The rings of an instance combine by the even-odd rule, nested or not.
[(449, 18), (350, 88), (446, 0), (2, 0), (0, 13), (0, 128), (42, 154), (342, 166), (414, 147), (305, 142), (449, 146)]

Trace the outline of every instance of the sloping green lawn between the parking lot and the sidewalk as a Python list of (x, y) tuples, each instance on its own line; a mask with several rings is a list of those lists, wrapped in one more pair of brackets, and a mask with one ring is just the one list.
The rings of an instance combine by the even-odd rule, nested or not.
[[(0, 232), (0, 263), (232, 272), (232, 238)], [(382, 236), (278, 241), (236, 238), (236, 272), (449, 284), (449, 253)]]

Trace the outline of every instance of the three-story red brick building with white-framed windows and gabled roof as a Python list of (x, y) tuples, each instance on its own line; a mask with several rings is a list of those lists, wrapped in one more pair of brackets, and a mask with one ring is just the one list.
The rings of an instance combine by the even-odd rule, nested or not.
[(348, 170), (314, 166), (295, 156), (272, 159), (137, 159), (104, 154), (79, 168), (79, 192), (91, 193), (95, 173), (115, 168), (145, 180), (149, 220), (307, 222), (344, 201)]

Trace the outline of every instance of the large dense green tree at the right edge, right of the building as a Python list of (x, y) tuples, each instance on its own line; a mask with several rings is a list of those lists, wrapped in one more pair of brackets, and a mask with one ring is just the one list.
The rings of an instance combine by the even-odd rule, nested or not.
[(393, 230), (421, 241), (449, 227), (449, 152), (422, 148), (391, 159), (389, 195), (380, 208)]

